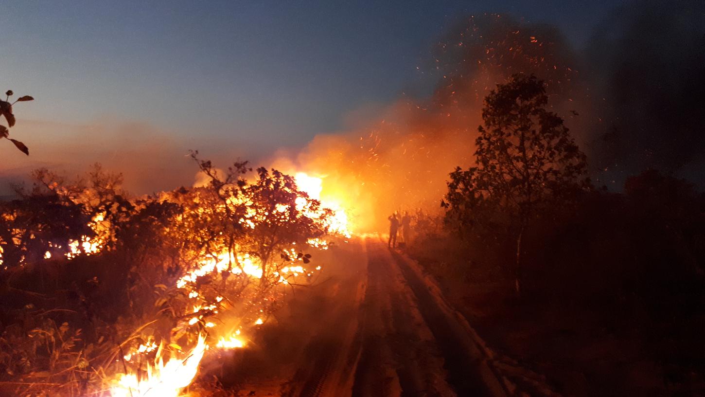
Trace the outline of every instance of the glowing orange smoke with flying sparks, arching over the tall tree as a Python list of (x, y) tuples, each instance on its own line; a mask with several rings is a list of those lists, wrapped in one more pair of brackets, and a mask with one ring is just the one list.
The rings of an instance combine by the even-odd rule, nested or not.
[(355, 231), (380, 231), (393, 212), (440, 211), (448, 173), (474, 161), (484, 97), (513, 73), (546, 80), (557, 111), (587, 108), (575, 56), (556, 28), (472, 16), (450, 29), (433, 55), (438, 83), (431, 97), (403, 97), (358, 128), (278, 153), (274, 166), (324, 178), (321, 198), (348, 208)]

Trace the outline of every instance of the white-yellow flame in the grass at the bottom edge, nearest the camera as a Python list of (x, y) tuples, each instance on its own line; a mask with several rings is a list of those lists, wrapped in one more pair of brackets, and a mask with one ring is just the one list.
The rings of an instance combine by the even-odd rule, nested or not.
[(110, 389), (111, 397), (178, 397), (181, 390), (191, 384), (207, 349), (204, 335), (198, 337), (197, 345), (185, 358), (170, 358), (164, 364), (163, 349), (159, 348), (154, 365), (147, 371), (122, 374), (117, 384)]

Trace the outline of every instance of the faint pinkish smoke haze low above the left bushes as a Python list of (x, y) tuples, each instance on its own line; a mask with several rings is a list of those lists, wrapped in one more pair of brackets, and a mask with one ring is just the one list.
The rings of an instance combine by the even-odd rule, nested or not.
[[(145, 123), (101, 120), (86, 125), (20, 120), (13, 135), (30, 147), (30, 157), (5, 148), (0, 194), (11, 194), (11, 183), (27, 182), (30, 171), (47, 168), (68, 177), (100, 163), (123, 173), (125, 188), (152, 193), (188, 185), (195, 169), (174, 138)], [(17, 152), (17, 153), (15, 153)]]

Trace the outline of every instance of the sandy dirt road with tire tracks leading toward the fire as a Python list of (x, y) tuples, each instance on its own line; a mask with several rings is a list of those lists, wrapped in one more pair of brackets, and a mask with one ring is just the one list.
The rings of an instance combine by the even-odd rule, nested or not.
[(470, 334), (408, 259), (360, 238), (334, 260), (333, 288), (317, 295), (326, 300), (318, 331), (281, 396), (504, 395)]

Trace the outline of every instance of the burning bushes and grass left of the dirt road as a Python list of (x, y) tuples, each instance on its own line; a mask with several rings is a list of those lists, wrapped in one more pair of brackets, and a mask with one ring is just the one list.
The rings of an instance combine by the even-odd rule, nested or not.
[[(23, 396), (178, 396), (209, 349), (241, 348), (315, 271), (340, 216), (292, 176), (247, 163), (128, 197), (96, 167), (46, 170), (2, 203), (0, 387)], [(69, 271), (70, 269), (70, 271)]]

